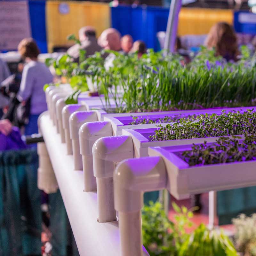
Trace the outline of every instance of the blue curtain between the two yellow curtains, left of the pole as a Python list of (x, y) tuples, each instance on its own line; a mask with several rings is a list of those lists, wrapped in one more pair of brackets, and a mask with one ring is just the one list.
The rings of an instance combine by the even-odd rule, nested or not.
[(118, 6), (111, 8), (112, 27), (121, 35), (130, 34), (134, 41), (143, 40), (148, 48), (160, 50), (156, 33), (165, 31), (169, 15), (168, 8)]

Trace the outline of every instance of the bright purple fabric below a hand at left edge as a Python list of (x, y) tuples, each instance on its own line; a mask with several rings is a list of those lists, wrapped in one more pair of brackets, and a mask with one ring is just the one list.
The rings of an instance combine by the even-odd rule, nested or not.
[(18, 127), (12, 127), (12, 132), (5, 136), (0, 132), (0, 151), (10, 149), (27, 148), (23, 140), (21, 140), (20, 130)]

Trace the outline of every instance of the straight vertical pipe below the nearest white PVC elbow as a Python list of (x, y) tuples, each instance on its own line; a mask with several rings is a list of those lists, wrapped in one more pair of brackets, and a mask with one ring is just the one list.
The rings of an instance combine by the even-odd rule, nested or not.
[(141, 212), (118, 214), (122, 256), (142, 255)]

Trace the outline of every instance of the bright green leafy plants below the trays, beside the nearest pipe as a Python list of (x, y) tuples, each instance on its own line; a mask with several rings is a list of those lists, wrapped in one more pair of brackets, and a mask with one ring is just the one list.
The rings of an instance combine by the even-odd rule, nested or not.
[(168, 220), (162, 204), (151, 202), (142, 210), (143, 244), (151, 256), (238, 256), (233, 244), (222, 232), (203, 224), (191, 234), (193, 213), (173, 203), (175, 221)]

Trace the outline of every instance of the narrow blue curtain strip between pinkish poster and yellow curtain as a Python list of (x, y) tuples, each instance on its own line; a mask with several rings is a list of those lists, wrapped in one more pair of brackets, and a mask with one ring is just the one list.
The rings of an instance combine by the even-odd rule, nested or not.
[(42, 53), (47, 52), (45, 1), (28, 1), (32, 37)]

